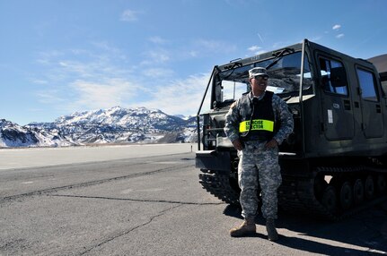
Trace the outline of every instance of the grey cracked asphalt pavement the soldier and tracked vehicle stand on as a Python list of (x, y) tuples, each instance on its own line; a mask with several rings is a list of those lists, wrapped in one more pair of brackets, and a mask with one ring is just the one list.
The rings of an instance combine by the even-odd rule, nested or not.
[(277, 243), (262, 218), (257, 235), (231, 238), (240, 213), (200, 187), (190, 148), (157, 151), (4, 168), (0, 255), (387, 254), (387, 203), (338, 223), (282, 212)]

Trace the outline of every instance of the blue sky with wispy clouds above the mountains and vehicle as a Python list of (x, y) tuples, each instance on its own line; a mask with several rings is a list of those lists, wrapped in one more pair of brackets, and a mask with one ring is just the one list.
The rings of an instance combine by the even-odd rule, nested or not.
[(0, 0), (0, 118), (100, 108), (194, 115), (215, 64), (308, 38), (387, 53), (386, 0)]

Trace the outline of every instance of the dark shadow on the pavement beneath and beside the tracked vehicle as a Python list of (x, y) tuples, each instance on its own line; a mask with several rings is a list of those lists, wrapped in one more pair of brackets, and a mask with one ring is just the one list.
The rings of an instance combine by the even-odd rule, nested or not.
[[(224, 215), (242, 219), (241, 209), (231, 205), (226, 206)], [(260, 214), (256, 224), (265, 225), (265, 219)], [(387, 255), (387, 202), (338, 222), (279, 211), (277, 227), (291, 232), (279, 232), (280, 239), (276, 243), (304, 252)], [(266, 234), (253, 236), (267, 239)]]

